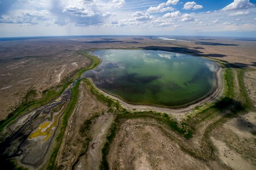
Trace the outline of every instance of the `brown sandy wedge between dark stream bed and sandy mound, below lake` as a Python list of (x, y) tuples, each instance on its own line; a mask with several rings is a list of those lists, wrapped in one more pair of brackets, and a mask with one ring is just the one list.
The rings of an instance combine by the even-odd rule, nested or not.
[[(77, 167), (81, 169), (96, 168), (94, 163), (99, 164), (101, 161), (101, 148), (105, 142), (108, 127), (113, 121), (113, 115), (110, 113), (104, 113), (107, 107), (100, 101), (97, 101), (94, 96), (90, 94), (86, 88), (85, 82), (80, 83), (79, 87), (80, 97), (76, 109), (69, 120), (66, 136), (61, 145), (61, 150), (58, 154), (58, 166), (61, 169), (71, 170), (72, 165), (77, 161)], [(102, 114), (104, 113), (104, 114)], [(90, 133), (92, 135), (92, 142), (89, 144), (90, 154), (86, 154), (86, 157), (79, 155), (85, 147), (85, 137), (80, 134), (80, 129), (83, 123), (90, 119), (94, 114), (100, 114), (100, 117), (93, 123), (93, 130)], [(94, 149), (92, 149), (92, 143), (94, 142)], [(95, 155), (94, 155), (95, 154)], [(87, 156), (87, 155), (90, 155)], [(78, 168), (79, 169), (79, 168)]]

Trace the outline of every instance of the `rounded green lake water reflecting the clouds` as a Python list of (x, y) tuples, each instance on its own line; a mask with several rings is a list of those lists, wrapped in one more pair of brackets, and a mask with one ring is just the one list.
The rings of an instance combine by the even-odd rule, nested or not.
[(198, 101), (216, 86), (216, 63), (155, 50), (96, 50), (102, 63), (86, 72), (94, 84), (134, 104), (180, 107)]

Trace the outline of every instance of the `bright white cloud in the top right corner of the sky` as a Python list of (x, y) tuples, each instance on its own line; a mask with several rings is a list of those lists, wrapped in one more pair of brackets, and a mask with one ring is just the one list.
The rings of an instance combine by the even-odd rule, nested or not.
[(239, 10), (239, 9), (253, 7), (253, 6), (254, 4), (250, 3), (249, 0), (234, 0), (234, 2), (232, 2), (228, 6), (225, 6), (222, 10), (223, 11)]

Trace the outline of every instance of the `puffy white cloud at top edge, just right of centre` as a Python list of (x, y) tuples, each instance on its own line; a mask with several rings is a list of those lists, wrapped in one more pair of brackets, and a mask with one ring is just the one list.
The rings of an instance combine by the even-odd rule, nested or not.
[[(173, 11), (175, 8), (169, 5), (176, 5), (179, 0), (168, 0), (166, 3), (161, 3), (158, 6), (150, 6), (147, 10), (148, 13), (163, 13), (166, 11)], [(167, 6), (167, 7), (165, 7)]]

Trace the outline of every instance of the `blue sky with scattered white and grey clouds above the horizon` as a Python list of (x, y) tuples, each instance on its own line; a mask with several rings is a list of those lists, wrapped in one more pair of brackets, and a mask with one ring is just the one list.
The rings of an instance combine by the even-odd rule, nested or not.
[(0, 37), (256, 37), (256, 0), (0, 0)]

